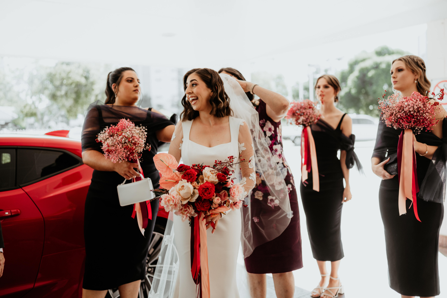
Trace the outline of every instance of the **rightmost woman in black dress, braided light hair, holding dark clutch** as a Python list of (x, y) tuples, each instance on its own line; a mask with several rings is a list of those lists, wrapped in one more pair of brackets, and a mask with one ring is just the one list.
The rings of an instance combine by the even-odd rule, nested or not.
[[(429, 96), (430, 81), (425, 71), (424, 61), (417, 56), (394, 60), (391, 66), (393, 88), (403, 96), (410, 96), (413, 92)], [(422, 130), (421, 134), (413, 138), (420, 189), (417, 193), (417, 213), (421, 222), (416, 219), (410, 200), (406, 200), (407, 213), (399, 216), (398, 176), (384, 170), (384, 165), (390, 160), (388, 156), (397, 152), (402, 130), (395, 130), (380, 122), (377, 131), (371, 164), (372, 171), (382, 178), (379, 204), (385, 229), (388, 279), (390, 287), (402, 297), (434, 297), (440, 294), (438, 242), (446, 189), (446, 115), (446, 111), (439, 105), (435, 117), (444, 119), (432, 126), (430, 132)]]

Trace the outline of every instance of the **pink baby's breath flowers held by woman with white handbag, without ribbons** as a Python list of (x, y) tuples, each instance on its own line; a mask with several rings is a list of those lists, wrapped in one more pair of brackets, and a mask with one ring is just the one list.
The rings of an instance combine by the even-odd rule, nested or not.
[(96, 141), (102, 143), (105, 158), (113, 163), (125, 160), (136, 162), (144, 149), (151, 150), (151, 145), (146, 145), (147, 134), (147, 128), (135, 126), (129, 119), (120, 119), (116, 126), (107, 126), (102, 130)]

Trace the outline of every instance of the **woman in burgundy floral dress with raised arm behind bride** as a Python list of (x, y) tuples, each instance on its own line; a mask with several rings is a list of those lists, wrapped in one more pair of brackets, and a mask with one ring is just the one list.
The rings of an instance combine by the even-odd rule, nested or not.
[[(266, 297), (266, 273), (272, 273), (276, 296), (278, 298), (291, 298), (295, 291), (292, 271), (303, 267), (303, 259), (298, 197), (292, 172), (283, 154), (283, 140), (281, 138), (281, 119), (287, 113), (289, 101), (282, 95), (258, 85), (254, 86), (252, 92), (261, 99), (253, 101), (253, 94), (249, 92), (253, 83), (246, 82), (239, 71), (228, 67), (222, 68), (219, 73), (226, 73), (239, 80), (242, 89), (247, 92), (247, 96), (252, 100), (259, 114), (259, 125), (264, 130), (264, 136), (269, 140), (270, 151), (275, 161), (282, 167), (292, 211), (290, 223), (283, 233), (275, 239), (257, 246), (252, 254), (245, 258), (245, 267), (249, 273), (251, 297)], [(269, 214), (274, 210), (274, 205), (269, 201), (269, 190), (263, 179), (265, 178), (257, 174), (256, 187), (252, 190), (250, 197), (250, 208), (254, 218), (260, 217), (260, 214)], [(256, 236), (256, 232), (261, 231), (254, 231), (253, 235)]]

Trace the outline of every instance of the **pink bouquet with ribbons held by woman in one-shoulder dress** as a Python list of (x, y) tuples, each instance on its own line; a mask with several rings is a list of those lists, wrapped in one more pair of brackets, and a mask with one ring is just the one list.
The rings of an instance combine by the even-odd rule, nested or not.
[(308, 179), (308, 173), (312, 168), (312, 189), (320, 191), (320, 177), (318, 174), (318, 164), (316, 160), (315, 141), (312, 137), (310, 126), (320, 120), (321, 114), (316, 109), (313, 101), (294, 101), (287, 112), (286, 119), (291, 119), (291, 123), (303, 126), (301, 133), (301, 180), (303, 183)]

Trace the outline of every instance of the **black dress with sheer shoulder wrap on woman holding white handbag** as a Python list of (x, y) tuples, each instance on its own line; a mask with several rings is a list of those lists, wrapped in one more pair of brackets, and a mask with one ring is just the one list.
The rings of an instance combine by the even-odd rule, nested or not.
[[(103, 153), (97, 134), (106, 126), (116, 125), (126, 118), (148, 129), (147, 145), (140, 159), (145, 177), (158, 188), (160, 176), (153, 156), (157, 153), (156, 131), (174, 125), (166, 117), (133, 106), (95, 105), (87, 113), (82, 132), (82, 151)], [(132, 281), (142, 280), (146, 273), (146, 258), (158, 212), (158, 201), (151, 202), (152, 220), (144, 235), (137, 218), (132, 218), (133, 205), (120, 206), (117, 185), (124, 178), (117, 172), (93, 171), (92, 182), (85, 200), (84, 238), (85, 273), (82, 287), (86, 290), (108, 290)], [(127, 183), (130, 183), (129, 180)]]

